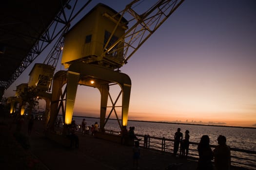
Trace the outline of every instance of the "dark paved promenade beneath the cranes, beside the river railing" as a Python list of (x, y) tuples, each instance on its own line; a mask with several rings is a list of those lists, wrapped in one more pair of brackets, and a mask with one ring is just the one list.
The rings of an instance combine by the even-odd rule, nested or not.
[[(26, 129), (25, 121), (22, 131), (25, 135)], [(79, 149), (70, 149), (46, 138), (43, 129), (42, 121), (35, 121), (32, 134), (28, 136), (31, 146), (24, 150), (12, 136), (15, 124), (6, 126), (1, 119), (2, 170), (136, 170), (131, 146), (78, 133)], [(172, 170), (196, 170), (197, 160), (179, 159), (170, 153), (141, 147), (140, 170), (165, 170), (171, 164), (179, 164), (178, 169)]]

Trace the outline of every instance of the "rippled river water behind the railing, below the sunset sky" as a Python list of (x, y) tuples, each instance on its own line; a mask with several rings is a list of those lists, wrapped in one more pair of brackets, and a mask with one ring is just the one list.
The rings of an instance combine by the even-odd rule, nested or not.
[[(81, 124), (82, 117), (73, 117), (77, 124)], [(99, 119), (85, 118), (87, 126), (91, 126), (95, 122), (99, 123)], [(150, 135), (155, 137), (165, 137), (169, 139), (174, 138), (174, 134), (177, 128), (181, 129), (183, 136), (185, 131), (190, 132), (190, 141), (199, 143), (200, 137), (208, 135), (210, 137), (210, 144), (217, 145), (217, 137), (219, 135), (226, 136), (227, 144), (231, 148), (238, 148), (250, 151), (256, 151), (256, 129), (239, 128), (239, 127), (221, 127), (221, 126), (202, 126), (202, 125), (189, 125), (189, 124), (171, 124), (171, 123), (160, 123), (160, 122), (141, 122), (141, 121), (128, 121), (128, 127), (134, 126), (135, 133), (139, 135)], [(108, 120), (105, 125), (105, 129), (120, 131), (117, 120)], [(191, 146), (193, 147), (193, 146)], [(194, 146), (196, 150), (196, 146)], [(191, 151), (193, 152), (193, 151)], [(194, 151), (195, 152), (195, 151)], [(256, 160), (256, 155), (234, 152), (232, 156), (242, 157), (246, 159)], [(234, 160), (234, 158), (232, 158)], [(244, 164), (255, 164), (255, 162), (248, 160), (236, 160)], [(241, 164), (233, 163), (233, 165), (241, 166)], [(248, 168), (246, 165), (242, 167)], [(250, 168), (251, 169), (251, 168)]]

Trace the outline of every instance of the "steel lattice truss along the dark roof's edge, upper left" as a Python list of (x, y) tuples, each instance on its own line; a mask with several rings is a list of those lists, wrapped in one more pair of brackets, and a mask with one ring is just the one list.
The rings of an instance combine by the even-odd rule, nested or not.
[[(91, 0), (68, 0), (62, 5), (61, 10), (54, 18), (52, 23), (46, 28), (45, 32), (40, 36), (31, 50), (27, 53), (26, 57), (20, 63), (12, 77), (7, 81), (0, 81), (0, 86), (7, 89), (12, 83), (20, 76), (20, 74), (39, 56), (39, 54), (49, 45), (52, 41), (59, 36), (66, 27), (69, 27), (70, 22), (77, 17), (77, 15), (91, 2)], [(71, 5), (70, 5), (71, 4)], [(83, 4), (83, 5), (81, 5)], [(30, 37), (35, 39), (35, 37)]]

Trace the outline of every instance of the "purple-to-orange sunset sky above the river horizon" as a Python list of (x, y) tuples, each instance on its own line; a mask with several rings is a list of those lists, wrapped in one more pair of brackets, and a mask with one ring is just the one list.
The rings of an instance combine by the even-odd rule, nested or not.
[[(98, 2), (119, 12), (130, 0), (93, 0), (88, 11)], [(256, 126), (256, 1), (185, 0), (120, 70), (132, 80), (129, 119)], [(97, 89), (79, 85), (74, 115), (99, 117), (99, 104)]]

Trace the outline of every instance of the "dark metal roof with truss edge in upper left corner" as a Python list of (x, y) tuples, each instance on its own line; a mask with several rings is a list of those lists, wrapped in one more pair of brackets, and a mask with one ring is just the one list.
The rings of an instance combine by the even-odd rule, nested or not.
[[(91, 0), (4, 0), (0, 5), (3, 93)], [(79, 8), (79, 10), (77, 9)]]

